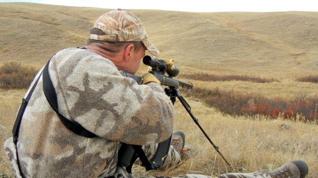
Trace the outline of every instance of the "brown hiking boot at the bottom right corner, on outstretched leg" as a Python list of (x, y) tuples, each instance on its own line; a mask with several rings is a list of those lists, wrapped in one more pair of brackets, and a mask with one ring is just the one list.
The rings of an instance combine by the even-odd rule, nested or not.
[(308, 166), (305, 161), (296, 160), (286, 163), (267, 174), (272, 178), (305, 178), (308, 174)]

